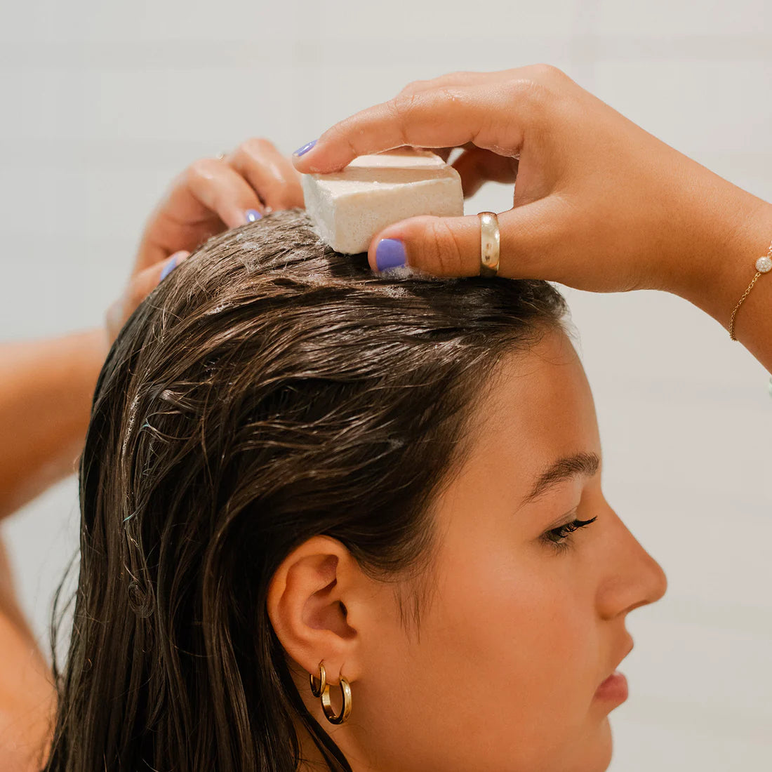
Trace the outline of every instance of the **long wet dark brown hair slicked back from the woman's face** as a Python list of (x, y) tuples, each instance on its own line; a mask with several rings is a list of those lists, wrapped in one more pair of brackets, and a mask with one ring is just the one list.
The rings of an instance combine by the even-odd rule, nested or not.
[(269, 581), (318, 534), (384, 581), (425, 571), (479, 389), (565, 311), (541, 281), (375, 274), (300, 210), (201, 246), (97, 384), (46, 770), (293, 772), (294, 720), (348, 769), (294, 686)]

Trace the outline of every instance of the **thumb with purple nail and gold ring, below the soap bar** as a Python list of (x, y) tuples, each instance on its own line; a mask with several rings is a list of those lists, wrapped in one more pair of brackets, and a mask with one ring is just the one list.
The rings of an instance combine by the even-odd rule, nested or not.
[[(541, 198), (498, 215), (499, 271), (505, 279), (550, 279), (560, 253), (559, 208), (553, 197)], [(367, 251), (375, 271), (399, 264), (433, 276), (478, 276), (480, 224), (466, 217), (413, 217), (378, 233)]]

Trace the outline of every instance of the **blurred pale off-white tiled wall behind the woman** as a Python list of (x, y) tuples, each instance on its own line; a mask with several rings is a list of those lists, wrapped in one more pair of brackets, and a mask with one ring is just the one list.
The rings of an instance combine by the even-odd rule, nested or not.
[[(458, 69), (554, 64), (772, 200), (766, 0), (32, 0), (0, 13), (2, 340), (102, 323), (144, 219), (195, 158), (252, 136), (289, 154)], [(511, 194), (483, 188), (466, 211), (503, 211)], [(768, 374), (675, 296), (560, 289), (595, 394), (606, 496), (669, 577), (665, 598), (628, 621), (631, 699), (611, 715), (611, 770), (769, 770)], [(44, 647), (77, 529), (74, 478), (2, 527)]]

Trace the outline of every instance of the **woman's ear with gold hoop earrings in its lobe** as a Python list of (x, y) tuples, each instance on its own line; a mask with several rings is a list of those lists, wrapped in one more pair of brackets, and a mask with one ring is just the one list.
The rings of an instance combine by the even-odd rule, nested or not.
[(307, 672), (337, 683), (359, 677), (360, 635), (355, 620), (365, 584), (359, 564), (339, 541), (313, 537), (296, 547), (273, 574), (268, 616), (287, 654)]

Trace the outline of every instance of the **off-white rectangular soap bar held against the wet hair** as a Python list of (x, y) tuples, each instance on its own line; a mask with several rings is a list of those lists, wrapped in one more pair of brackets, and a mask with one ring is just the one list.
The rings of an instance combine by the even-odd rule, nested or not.
[(337, 252), (367, 252), (387, 225), (415, 215), (460, 217), (461, 177), (428, 151), (386, 151), (354, 158), (342, 171), (303, 174), (306, 212)]

